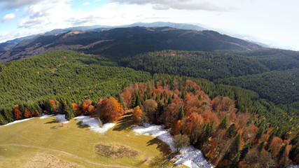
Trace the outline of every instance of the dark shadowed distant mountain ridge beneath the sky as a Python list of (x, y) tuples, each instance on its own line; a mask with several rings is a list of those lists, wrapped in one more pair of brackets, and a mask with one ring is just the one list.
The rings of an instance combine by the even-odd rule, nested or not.
[[(158, 27), (166, 23), (150, 25), (157, 27), (97, 28), (88, 30), (55, 29), (34, 38), (27, 38), (11, 50), (0, 53), (0, 61), (39, 55), (52, 50), (76, 50), (93, 54), (106, 54), (118, 57), (134, 56), (155, 50), (251, 50), (260, 45), (233, 38), (216, 31), (195, 31), (188, 25), (177, 25), (186, 29)], [(92, 27), (95, 28), (95, 27)], [(197, 29), (202, 29), (197, 27)]]

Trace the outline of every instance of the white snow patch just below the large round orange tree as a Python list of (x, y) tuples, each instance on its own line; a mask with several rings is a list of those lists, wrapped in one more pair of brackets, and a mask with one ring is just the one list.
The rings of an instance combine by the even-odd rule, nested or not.
[(90, 116), (78, 116), (76, 120), (82, 121), (81, 125), (89, 125), (89, 129), (100, 134), (106, 133), (109, 129), (114, 127), (115, 123), (106, 123), (103, 127), (99, 127), (99, 120), (91, 118)]

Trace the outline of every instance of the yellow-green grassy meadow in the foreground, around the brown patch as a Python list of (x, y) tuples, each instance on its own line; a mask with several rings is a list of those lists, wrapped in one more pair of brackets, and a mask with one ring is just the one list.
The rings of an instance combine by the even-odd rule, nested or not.
[[(76, 120), (70, 120), (64, 127), (57, 128), (58, 125), (55, 117), (50, 117), (1, 126), (0, 167), (23, 167), (37, 153), (48, 153), (83, 167), (151, 167), (155, 157), (169, 154), (169, 147), (162, 141), (130, 131), (126, 120), (106, 134), (90, 131)], [(95, 153), (98, 143), (121, 144), (139, 155), (109, 159)]]

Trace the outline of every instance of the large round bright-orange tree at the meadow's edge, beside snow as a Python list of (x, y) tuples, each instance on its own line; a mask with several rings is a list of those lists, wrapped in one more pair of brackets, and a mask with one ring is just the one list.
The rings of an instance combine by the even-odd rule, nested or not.
[(96, 111), (104, 123), (112, 123), (118, 120), (120, 116), (123, 116), (123, 107), (113, 97), (102, 99), (97, 104)]

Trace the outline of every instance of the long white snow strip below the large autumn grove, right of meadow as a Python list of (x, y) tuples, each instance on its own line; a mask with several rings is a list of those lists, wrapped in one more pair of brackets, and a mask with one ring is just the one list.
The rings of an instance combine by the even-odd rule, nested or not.
[[(150, 135), (152, 137), (157, 137), (161, 141), (165, 142), (172, 151), (176, 151), (174, 148), (174, 142), (172, 141), (172, 136), (163, 128), (161, 125), (149, 125), (144, 124), (144, 126), (135, 126), (133, 131), (138, 134)], [(176, 155), (176, 165), (186, 165), (188, 167), (214, 167), (210, 162), (204, 159), (202, 152), (193, 146), (184, 148), (181, 150), (181, 154)]]

